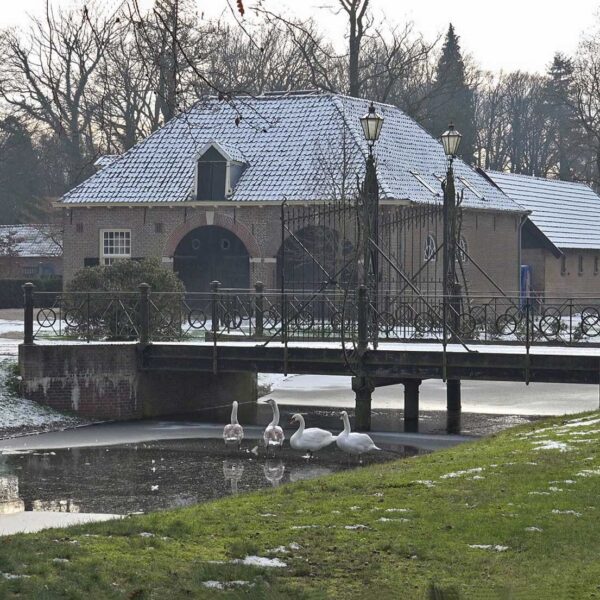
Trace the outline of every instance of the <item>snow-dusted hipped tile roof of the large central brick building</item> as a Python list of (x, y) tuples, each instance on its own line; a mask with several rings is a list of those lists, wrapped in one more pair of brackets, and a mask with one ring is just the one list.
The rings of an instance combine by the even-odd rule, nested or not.
[[(196, 158), (213, 141), (248, 165), (233, 201), (347, 196), (356, 190), (356, 175), (364, 175), (367, 144), (359, 118), (367, 108), (366, 100), (322, 93), (203, 100), (68, 192), (63, 202), (193, 200)], [(376, 104), (376, 110), (385, 119), (375, 146), (382, 199), (441, 202), (441, 144), (398, 108)], [(465, 206), (521, 210), (462, 161), (454, 164)]]

